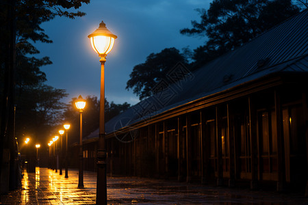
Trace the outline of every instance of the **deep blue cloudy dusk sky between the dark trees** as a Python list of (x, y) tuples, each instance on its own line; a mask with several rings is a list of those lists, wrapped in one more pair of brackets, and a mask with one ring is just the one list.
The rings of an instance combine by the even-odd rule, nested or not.
[(53, 64), (43, 66), (47, 84), (65, 89), (64, 102), (79, 96), (97, 96), (100, 92), (100, 57), (92, 50), (88, 35), (103, 20), (107, 29), (118, 38), (105, 63), (105, 97), (115, 103), (135, 105), (138, 96), (125, 90), (133, 66), (141, 64), (150, 53), (175, 47), (195, 49), (204, 38), (183, 36), (180, 29), (191, 27), (191, 20), (200, 20), (195, 9), (208, 8), (211, 0), (144, 1), (91, 0), (81, 6), (86, 16), (70, 20), (57, 17), (42, 28), (52, 44), (37, 43), (41, 56), (51, 57)]

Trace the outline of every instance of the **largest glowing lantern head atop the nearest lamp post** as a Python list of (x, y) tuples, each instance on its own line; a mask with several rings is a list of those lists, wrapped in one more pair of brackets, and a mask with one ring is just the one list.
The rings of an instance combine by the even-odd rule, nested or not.
[(102, 20), (99, 28), (91, 33), (88, 38), (90, 38), (92, 49), (101, 57), (100, 61), (106, 61), (105, 57), (112, 50), (114, 40), (118, 37), (107, 29)]

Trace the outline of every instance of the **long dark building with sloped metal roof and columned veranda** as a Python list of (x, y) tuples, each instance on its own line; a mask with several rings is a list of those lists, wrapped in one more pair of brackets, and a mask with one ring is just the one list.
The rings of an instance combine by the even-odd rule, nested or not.
[[(308, 179), (308, 11), (190, 72), (105, 124), (112, 174), (234, 186)], [(171, 85), (170, 85), (171, 82)], [(168, 85), (168, 87), (166, 87)], [(97, 135), (84, 141), (96, 169)]]

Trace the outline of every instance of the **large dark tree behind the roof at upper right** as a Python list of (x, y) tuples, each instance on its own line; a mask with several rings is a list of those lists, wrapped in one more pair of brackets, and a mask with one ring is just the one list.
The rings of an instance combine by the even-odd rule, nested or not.
[(192, 20), (188, 36), (207, 37), (194, 50), (194, 68), (252, 40), (299, 12), (291, 0), (214, 0), (209, 10), (198, 10), (201, 21)]

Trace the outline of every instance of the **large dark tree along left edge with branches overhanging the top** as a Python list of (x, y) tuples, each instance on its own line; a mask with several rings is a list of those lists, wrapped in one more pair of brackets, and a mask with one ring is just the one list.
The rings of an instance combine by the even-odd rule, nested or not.
[[(47, 85), (38, 87), (42, 85), (41, 83), (43, 81), (46, 81), (46, 76), (44, 72), (40, 71), (40, 66), (51, 64), (51, 61), (49, 57), (37, 59), (31, 56), (39, 53), (32, 43), (37, 41), (52, 42), (40, 25), (53, 19), (55, 16), (66, 16), (68, 18), (84, 16), (85, 14), (83, 12), (73, 12), (73, 9), (77, 10), (81, 6), (81, 3), (89, 2), (90, 0), (0, 1), (0, 165), (2, 165), (3, 149), (9, 149), (11, 154), (10, 169), (12, 169), (12, 173), (18, 167), (16, 165), (18, 150), (16, 148), (16, 136), (14, 134), (15, 85), (19, 85), (19, 90), (22, 92), (31, 93), (31, 91), (36, 90), (38, 91), (36, 93), (38, 96), (42, 96), (40, 94), (45, 95), (46, 92), (49, 92), (51, 95), (49, 96), (47, 94), (48, 98), (44, 98), (43, 100), (50, 100), (50, 98), (62, 96), (61, 92), (56, 93), (55, 96), (52, 95), (53, 88), (46, 87)], [(25, 70), (23, 70), (24, 68)], [(24, 90), (23, 88), (27, 88), (28, 90)], [(46, 88), (47, 90), (45, 90)], [(58, 100), (56, 101), (58, 102)], [(36, 114), (39, 115), (42, 111), (41, 108), (47, 108), (45, 106), (48, 105), (46, 104), (47, 102), (36, 102), (32, 105), (36, 107)], [(16, 107), (19, 108), (22, 106), (17, 105)], [(29, 110), (29, 112), (31, 111), (35, 111), (35, 109)], [(44, 111), (43, 113), (46, 115), (42, 116), (48, 118), (49, 114), (51, 114), (50, 111)], [(33, 115), (29, 115), (28, 118), (30, 116), (33, 117)], [(21, 117), (18, 116), (18, 118)], [(25, 129), (25, 126), (17, 127), (16, 130), (18, 128)], [(0, 175), (2, 175), (1, 172), (2, 169), (0, 168)], [(18, 174), (17, 172), (15, 173), (16, 175), (12, 173), (10, 174), (10, 188), (15, 189), (16, 183), (13, 181)]]

